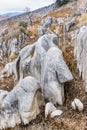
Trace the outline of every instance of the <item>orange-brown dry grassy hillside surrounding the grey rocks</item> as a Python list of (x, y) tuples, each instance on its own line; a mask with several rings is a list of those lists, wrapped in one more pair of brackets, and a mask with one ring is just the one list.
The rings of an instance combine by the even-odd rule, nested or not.
[[(62, 50), (64, 59), (69, 66), (74, 79), (72, 82), (65, 83), (65, 103), (63, 107), (59, 107), (63, 110), (63, 114), (60, 117), (55, 117), (51, 119), (48, 117), (45, 119), (44, 116), (44, 108), (42, 108), (41, 113), (37, 116), (36, 119), (32, 120), (29, 125), (24, 126), (20, 125), (14, 128), (14, 130), (86, 130), (87, 129), (87, 95), (84, 91), (84, 81), (79, 77), (79, 73), (77, 70), (77, 60), (74, 56), (74, 34), (77, 29), (79, 29), (82, 25), (87, 24), (87, 13), (79, 14), (78, 8), (82, 4), (83, 1), (75, 1), (70, 2), (67, 5), (62, 6), (61, 8), (55, 8), (55, 10), (48, 11), (47, 13), (40, 14), (38, 12), (37, 17), (35, 17), (36, 13), (32, 13), (32, 15), (27, 15), (28, 17), (22, 16), (22, 18), (18, 17), (15, 21), (11, 19), (11, 21), (6, 21), (2, 26), (1, 31), (1, 37), (3, 36), (3, 39), (9, 39), (10, 37), (15, 37), (16, 35), (19, 36), (22, 33), (25, 33), (27, 30), (28, 38), (25, 40), (25, 43), (22, 45), (21, 48), (28, 44), (33, 44), (36, 42), (39, 38), (38, 36), (38, 29), (41, 26), (41, 21), (48, 18), (48, 17), (55, 17), (64, 19), (63, 23), (56, 24), (52, 23), (50, 26), (49, 32), (58, 33), (57, 35), (60, 35), (60, 49)], [(42, 17), (41, 17), (42, 15)], [(31, 16), (31, 19), (30, 17)], [(76, 18), (75, 24), (73, 24), (67, 33), (64, 32), (63, 25), (67, 25), (67, 21), (70, 21), (72, 18)], [(30, 24), (30, 20), (32, 20), (32, 24)], [(28, 22), (27, 28), (20, 27), (19, 23), (20, 21), (24, 21), (25, 23)], [(6, 26), (6, 25), (7, 26)], [(2, 23), (1, 23), (2, 25)], [(5, 27), (6, 26), (6, 27)], [(9, 33), (6, 35), (2, 35), (2, 32), (7, 29)], [(65, 27), (65, 26), (64, 26)], [(14, 31), (15, 30), (15, 31)], [(22, 30), (22, 31), (20, 31)], [(0, 70), (3, 68), (3, 66), (9, 62), (9, 56), (4, 56), (4, 61), (0, 61)], [(13, 60), (13, 59), (11, 59)], [(13, 86), (16, 83), (13, 82), (13, 77), (5, 78), (3, 80), (0, 80), (0, 89), (5, 90), (12, 90)], [(79, 98), (83, 104), (84, 104), (84, 111), (74, 111), (71, 108), (71, 102), (74, 98)]]

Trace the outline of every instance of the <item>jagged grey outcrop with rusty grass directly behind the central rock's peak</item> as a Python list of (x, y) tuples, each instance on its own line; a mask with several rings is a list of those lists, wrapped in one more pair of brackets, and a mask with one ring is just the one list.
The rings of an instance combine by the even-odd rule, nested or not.
[[(62, 29), (62, 33), (69, 32), (71, 27), (76, 24), (76, 17), (67, 17), (67, 18), (55, 18), (55, 17), (47, 17), (43, 19), (38, 28), (39, 37), (43, 36), (47, 33), (55, 33), (57, 35), (61, 34), (60, 28)], [(52, 26), (55, 29), (51, 29)], [(53, 28), (54, 28), (53, 27)]]

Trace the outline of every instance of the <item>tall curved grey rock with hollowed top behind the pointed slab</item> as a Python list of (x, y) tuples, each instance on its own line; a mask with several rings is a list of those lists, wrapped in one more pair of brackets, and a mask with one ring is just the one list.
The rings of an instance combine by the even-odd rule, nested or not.
[(38, 39), (34, 56), (31, 59), (31, 73), (41, 81), (42, 65), (45, 53), (53, 46), (58, 45), (58, 37), (54, 34), (45, 34)]

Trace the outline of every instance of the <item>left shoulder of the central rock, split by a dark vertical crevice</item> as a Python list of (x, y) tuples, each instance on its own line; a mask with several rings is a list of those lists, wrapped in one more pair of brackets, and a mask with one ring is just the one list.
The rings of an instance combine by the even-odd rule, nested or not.
[[(24, 78), (24, 75), (28, 75), (29, 70), (29, 64), (30, 64), (30, 58), (29, 56), (33, 53), (35, 49), (35, 45), (28, 45), (24, 47), (16, 60), (13, 62), (9, 62), (5, 65), (5, 67), (2, 70), (1, 77), (9, 77), (12, 74), (14, 74), (14, 80)], [(24, 74), (25, 73), (25, 74)]]

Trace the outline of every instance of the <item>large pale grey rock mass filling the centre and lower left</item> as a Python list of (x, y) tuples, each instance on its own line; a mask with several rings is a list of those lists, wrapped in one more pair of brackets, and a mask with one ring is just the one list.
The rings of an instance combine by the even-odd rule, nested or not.
[[(14, 74), (15, 80), (19, 77), (20, 81), (7, 96), (2, 96), (1, 129), (15, 127), (21, 122), (28, 124), (40, 113), (43, 98), (63, 105), (64, 83), (73, 76), (58, 48), (58, 40), (55, 34), (43, 35), (34, 44), (24, 47), (18, 58), (2, 70), (3, 74), (6, 73), (4, 76)], [(62, 111), (57, 110), (51, 117), (61, 114)]]

